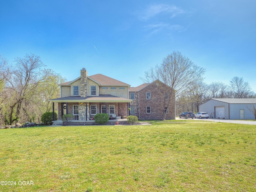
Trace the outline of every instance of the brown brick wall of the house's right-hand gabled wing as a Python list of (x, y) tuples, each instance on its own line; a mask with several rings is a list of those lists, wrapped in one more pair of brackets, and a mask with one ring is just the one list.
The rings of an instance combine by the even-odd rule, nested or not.
[[(164, 98), (164, 94), (168, 92), (168, 99)], [(151, 93), (151, 98), (146, 99), (146, 93)], [(168, 105), (168, 113), (166, 119), (175, 119), (175, 93), (171, 88), (161, 82), (148, 85), (139, 92), (139, 109), (140, 120), (158, 120), (163, 119), (164, 106)], [(146, 107), (151, 107), (150, 113), (146, 113)]]

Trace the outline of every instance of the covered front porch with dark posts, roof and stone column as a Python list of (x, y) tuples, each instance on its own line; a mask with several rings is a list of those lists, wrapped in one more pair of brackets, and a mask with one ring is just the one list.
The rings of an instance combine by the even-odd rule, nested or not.
[(98, 97), (71, 96), (51, 101), (53, 111), (55, 111), (54, 103), (58, 104), (58, 121), (62, 121), (63, 115), (71, 114), (74, 115), (74, 121), (80, 124), (93, 121), (98, 113), (107, 113), (115, 117), (112, 118), (113, 120), (124, 119), (129, 115), (128, 109), (132, 100), (113, 95), (99, 95)]

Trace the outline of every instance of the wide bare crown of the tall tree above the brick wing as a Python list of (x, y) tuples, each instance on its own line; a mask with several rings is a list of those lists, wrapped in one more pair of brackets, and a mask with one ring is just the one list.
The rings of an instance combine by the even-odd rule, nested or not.
[(179, 51), (167, 55), (160, 65), (151, 67), (142, 78), (147, 83), (159, 79), (175, 90), (176, 97), (184, 94), (194, 82), (203, 80), (205, 69), (195, 65)]

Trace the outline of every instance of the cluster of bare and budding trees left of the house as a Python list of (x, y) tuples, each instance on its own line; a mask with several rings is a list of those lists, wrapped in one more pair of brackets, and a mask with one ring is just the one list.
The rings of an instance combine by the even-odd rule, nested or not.
[(59, 97), (58, 84), (66, 79), (45, 66), (34, 54), (14, 63), (0, 55), (0, 125), (40, 123), (42, 114), (52, 111), (49, 100)]

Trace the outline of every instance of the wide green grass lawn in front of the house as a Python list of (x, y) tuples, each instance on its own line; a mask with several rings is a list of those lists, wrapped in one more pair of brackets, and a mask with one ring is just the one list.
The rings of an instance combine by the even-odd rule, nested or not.
[(255, 125), (2, 129), (0, 141), (0, 181), (16, 182), (1, 192), (256, 191)]

